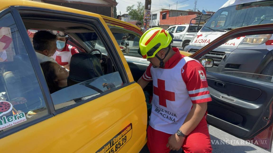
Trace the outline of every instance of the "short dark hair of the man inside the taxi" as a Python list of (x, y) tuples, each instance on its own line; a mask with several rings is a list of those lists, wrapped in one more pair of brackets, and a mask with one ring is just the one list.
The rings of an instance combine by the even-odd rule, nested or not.
[(38, 31), (33, 36), (33, 48), (43, 51), (50, 49), (50, 42), (56, 41), (57, 36), (48, 31)]

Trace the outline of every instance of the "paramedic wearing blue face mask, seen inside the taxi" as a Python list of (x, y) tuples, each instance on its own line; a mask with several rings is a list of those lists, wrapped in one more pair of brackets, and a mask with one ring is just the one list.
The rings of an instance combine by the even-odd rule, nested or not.
[(52, 34), (57, 36), (57, 50), (52, 56), (58, 64), (69, 69), (71, 56), (79, 53), (76, 47), (67, 44), (68, 35), (64, 32), (52, 30)]

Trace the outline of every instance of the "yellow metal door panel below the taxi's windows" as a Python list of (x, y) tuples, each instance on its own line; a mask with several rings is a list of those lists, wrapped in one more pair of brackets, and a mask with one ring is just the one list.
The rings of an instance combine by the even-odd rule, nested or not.
[[(0, 140), (0, 148), (29, 153), (138, 152), (145, 144), (146, 127), (144, 93), (133, 83), (4, 137)], [(108, 142), (113, 138), (115, 143), (109, 147)]]

